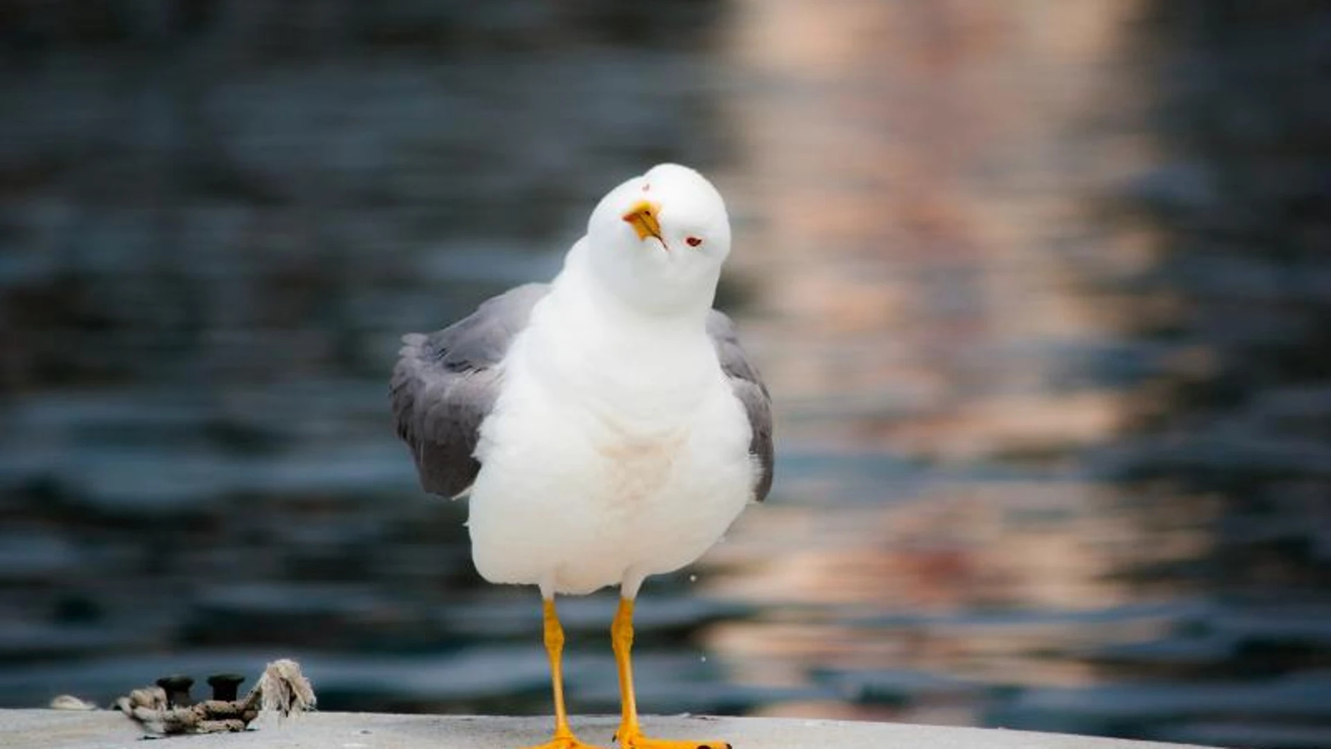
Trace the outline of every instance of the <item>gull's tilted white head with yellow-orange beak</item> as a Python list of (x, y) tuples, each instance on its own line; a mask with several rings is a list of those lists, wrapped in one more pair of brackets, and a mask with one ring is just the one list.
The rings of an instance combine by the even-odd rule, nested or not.
[(610, 191), (587, 223), (592, 272), (644, 312), (708, 309), (731, 252), (725, 201), (707, 177), (659, 164)]

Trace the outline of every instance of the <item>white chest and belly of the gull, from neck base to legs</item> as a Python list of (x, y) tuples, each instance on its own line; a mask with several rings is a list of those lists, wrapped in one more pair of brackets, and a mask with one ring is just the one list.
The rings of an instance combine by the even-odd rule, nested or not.
[(482, 425), (469, 517), (478, 569), (587, 592), (693, 561), (755, 477), (744, 410), (715, 355), (693, 345), (711, 343), (550, 344), (515, 341)]

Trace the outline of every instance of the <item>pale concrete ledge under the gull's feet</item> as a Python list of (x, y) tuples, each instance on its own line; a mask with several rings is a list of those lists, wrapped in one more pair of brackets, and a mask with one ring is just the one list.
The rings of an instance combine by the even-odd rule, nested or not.
[[(261, 718), (258, 730), (182, 736), (152, 742), (161, 749), (518, 749), (550, 738), (550, 718), (473, 716), (389, 716), (311, 713), (277, 724)], [(618, 718), (575, 716), (584, 741), (610, 745)], [(652, 736), (720, 738), (735, 749), (1146, 749), (1154, 744), (1055, 733), (945, 728), (881, 722), (788, 718), (655, 717), (644, 718)], [(0, 746), (49, 749), (144, 749), (141, 733), (117, 712), (0, 710)]]

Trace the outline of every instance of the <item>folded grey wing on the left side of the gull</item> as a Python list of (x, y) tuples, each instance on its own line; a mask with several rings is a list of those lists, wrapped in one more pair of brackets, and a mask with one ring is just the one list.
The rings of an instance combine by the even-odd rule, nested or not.
[(480, 422), (499, 397), (495, 365), (548, 292), (547, 284), (518, 287), (443, 331), (402, 336), (390, 400), (426, 492), (457, 497), (475, 481)]

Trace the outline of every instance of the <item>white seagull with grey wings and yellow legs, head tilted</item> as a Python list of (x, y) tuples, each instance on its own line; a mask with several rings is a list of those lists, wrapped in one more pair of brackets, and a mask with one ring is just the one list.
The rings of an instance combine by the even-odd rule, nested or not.
[(721, 195), (660, 164), (600, 200), (550, 284), (402, 339), (391, 405), (422, 488), (467, 497), (482, 577), (540, 589), (555, 733), (531, 749), (591, 746), (568, 725), (555, 596), (611, 585), (619, 745), (729, 749), (646, 737), (631, 660), (643, 581), (697, 560), (772, 486), (771, 396), (712, 309), (729, 251)]

